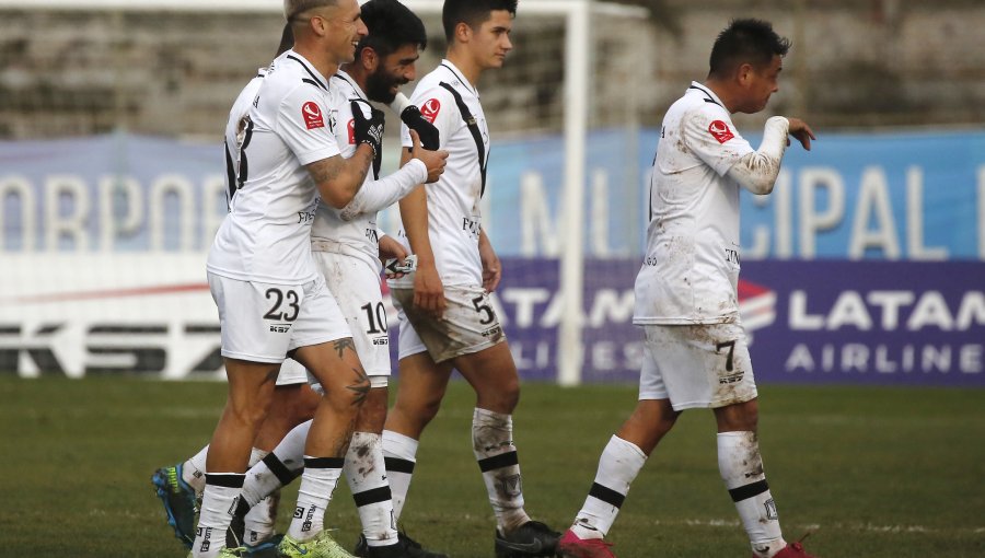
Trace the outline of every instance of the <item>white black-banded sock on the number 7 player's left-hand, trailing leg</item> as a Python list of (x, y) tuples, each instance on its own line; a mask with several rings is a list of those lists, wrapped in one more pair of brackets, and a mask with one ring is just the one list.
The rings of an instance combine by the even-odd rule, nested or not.
[(636, 444), (617, 435), (609, 440), (599, 458), (599, 470), (589, 496), (571, 525), (578, 538), (603, 538), (609, 534), (629, 492), (629, 485), (646, 462), (647, 455)]

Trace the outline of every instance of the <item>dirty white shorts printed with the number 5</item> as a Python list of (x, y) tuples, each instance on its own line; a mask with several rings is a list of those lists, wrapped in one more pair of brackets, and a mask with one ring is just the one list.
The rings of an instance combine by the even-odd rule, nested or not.
[(414, 289), (391, 288), (399, 311), (399, 358), (427, 351), (434, 362), (471, 354), (506, 341), (499, 317), (482, 287), (445, 286), (442, 319), (417, 312)]

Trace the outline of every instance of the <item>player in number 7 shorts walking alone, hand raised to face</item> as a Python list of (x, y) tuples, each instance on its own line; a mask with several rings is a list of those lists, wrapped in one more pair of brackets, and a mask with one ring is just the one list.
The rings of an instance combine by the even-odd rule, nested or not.
[(629, 485), (684, 409), (711, 408), (718, 467), (757, 558), (809, 558), (787, 544), (756, 433), (756, 384), (739, 321), (739, 190), (769, 194), (796, 138), (815, 139), (797, 118), (766, 120), (758, 150), (731, 114), (763, 111), (790, 42), (758, 20), (735, 20), (711, 49), (705, 83), (694, 82), (663, 118), (650, 183), (647, 255), (636, 278), (634, 323), (646, 329), (639, 402), (602, 452), (594, 483), (558, 550), (568, 558), (614, 556), (604, 540)]

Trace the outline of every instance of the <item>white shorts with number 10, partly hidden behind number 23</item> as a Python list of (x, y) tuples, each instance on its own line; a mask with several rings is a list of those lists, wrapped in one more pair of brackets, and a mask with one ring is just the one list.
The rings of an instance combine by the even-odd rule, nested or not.
[[(318, 272), (325, 278), (339, 310), (352, 333), (356, 354), (372, 387), (386, 387), (390, 380), (390, 337), (386, 311), (380, 291), (380, 274), (366, 260), (333, 252), (313, 252)], [(309, 382), (317, 390), (317, 380), (293, 359), (283, 361), (277, 385)]]

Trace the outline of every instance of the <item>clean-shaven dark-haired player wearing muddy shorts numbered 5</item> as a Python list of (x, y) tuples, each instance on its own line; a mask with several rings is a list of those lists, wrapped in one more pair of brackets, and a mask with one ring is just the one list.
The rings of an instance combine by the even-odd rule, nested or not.
[[(489, 130), (475, 84), (512, 49), (517, 0), (447, 0), (447, 59), (416, 88), (412, 103), (439, 130), (448, 168), (427, 189), (401, 201), (415, 272), (390, 281), (401, 310), (399, 374), (386, 418), (383, 452), (399, 516), (418, 440), (438, 411), (452, 369), (475, 390), (473, 449), (496, 514), (497, 556), (553, 556), (559, 533), (523, 509), (511, 415), (519, 377), (489, 293), (499, 258), (483, 231), (478, 206), (489, 159)], [(405, 147), (412, 144), (406, 129)], [(404, 154), (404, 160), (409, 156)]]

